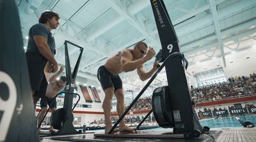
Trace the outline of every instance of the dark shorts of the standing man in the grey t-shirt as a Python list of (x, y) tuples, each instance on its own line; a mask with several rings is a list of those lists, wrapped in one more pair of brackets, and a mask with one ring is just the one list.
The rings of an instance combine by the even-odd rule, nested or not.
[(43, 97), (47, 88), (47, 81), (44, 75), (44, 67), (47, 60), (37, 52), (26, 52), (26, 59), (31, 89), (36, 91), (36, 97)]

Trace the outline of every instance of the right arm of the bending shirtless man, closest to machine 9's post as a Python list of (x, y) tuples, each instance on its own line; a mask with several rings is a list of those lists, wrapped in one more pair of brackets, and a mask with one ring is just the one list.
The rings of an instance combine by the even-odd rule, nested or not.
[(147, 73), (144, 71), (143, 66), (138, 67), (137, 73), (140, 76), (141, 81), (145, 81), (150, 78), (157, 71), (157, 62), (154, 62), (154, 66)]

